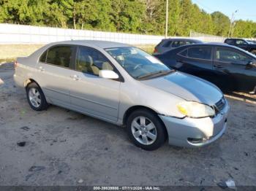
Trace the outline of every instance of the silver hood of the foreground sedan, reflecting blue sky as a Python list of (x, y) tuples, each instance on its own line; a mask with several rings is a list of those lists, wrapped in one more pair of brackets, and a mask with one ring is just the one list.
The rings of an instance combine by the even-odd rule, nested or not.
[(216, 104), (223, 96), (219, 88), (211, 84), (211, 82), (178, 71), (165, 77), (140, 82), (144, 85), (176, 95), (187, 101), (197, 101), (210, 106)]

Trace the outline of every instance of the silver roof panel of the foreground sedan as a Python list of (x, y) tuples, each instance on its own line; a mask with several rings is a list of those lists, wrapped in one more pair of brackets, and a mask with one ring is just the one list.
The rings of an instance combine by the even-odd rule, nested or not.
[(130, 47), (129, 44), (123, 44), (119, 42), (110, 42), (110, 41), (100, 41), (100, 40), (70, 40), (70, 41), (61, 41), (53, 42), (50, 45), (57, 44), (75, 44), (89, 47), (100, 47), (100, 48), (113, 48), (113, 47)]

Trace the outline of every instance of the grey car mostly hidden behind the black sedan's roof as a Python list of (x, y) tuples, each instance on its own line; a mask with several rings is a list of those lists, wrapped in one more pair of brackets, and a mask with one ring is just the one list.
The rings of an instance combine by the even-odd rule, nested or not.
[(183, 45), (198, 43), (203, 42), (197, 39), (162, 39), (162, 41), (159, 44), (157, 44), (157, 46), (154, 48), (153, 55), (161, 54), (163, 52), (173, 50)]

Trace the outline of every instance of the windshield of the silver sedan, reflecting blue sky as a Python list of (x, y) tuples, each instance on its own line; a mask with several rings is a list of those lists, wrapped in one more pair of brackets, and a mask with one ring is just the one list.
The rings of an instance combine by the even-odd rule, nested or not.
[(105, 49), (135, 79), (149, 79), (170, 74), (165, 64), (136, 47)]

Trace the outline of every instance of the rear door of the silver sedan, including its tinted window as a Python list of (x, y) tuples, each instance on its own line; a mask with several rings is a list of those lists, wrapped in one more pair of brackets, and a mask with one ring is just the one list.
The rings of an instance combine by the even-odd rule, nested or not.
[(52, 104), (68, 107), (70, 105), (70, 68), (74, 54), (74, 46), (56, 45), (46, 50), (39, 58), (37, 82)]

